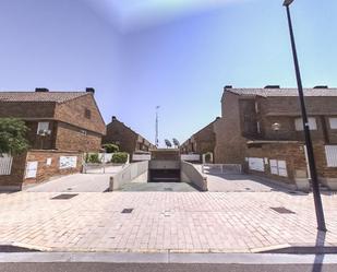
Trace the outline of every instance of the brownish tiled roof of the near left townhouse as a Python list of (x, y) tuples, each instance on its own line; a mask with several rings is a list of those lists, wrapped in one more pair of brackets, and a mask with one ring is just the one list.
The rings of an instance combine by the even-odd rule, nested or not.
[(0, 92), (0, 102), (55, 102), (64, 103), (86, 92)]

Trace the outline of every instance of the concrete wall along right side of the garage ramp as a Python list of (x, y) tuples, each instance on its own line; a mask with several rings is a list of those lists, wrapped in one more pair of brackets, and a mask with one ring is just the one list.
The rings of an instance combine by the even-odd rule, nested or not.
[(193, 164), (181, 162), (181, 181), (193, 184), (201, 191), (207, 191), (207, 178)]

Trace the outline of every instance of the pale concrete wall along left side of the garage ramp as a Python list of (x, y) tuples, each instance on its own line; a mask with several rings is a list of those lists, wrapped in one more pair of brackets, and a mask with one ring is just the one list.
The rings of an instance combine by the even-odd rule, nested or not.
[[(148, 162), (132, 163), (110, 178), (110, 191), (132, 181), (147, 181)], [(144, 180), (141, 180), (144, 179)]]

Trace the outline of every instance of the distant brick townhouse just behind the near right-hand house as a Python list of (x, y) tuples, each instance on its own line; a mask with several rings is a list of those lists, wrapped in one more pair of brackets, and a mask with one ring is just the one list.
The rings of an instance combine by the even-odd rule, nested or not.
[(216, 143), (216, 134), (215, 134), (215, 123), (220, 118), (217, 117), (213, 122), (208, 123), (206, 127), (202, 128), (200, 131), (194, 133), (190, 139), (188, 139), (180, 146), (180, 151), (182, 153), (214, 153), (215, 143)]

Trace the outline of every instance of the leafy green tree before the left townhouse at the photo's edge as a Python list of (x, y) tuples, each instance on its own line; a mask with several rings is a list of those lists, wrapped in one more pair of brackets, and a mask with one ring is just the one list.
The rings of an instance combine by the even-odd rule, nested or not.
[(0, 155), (20, 155), (29, 147), (25, 135), (28, 128), (15, 118), (0, 118)]

